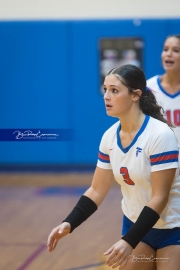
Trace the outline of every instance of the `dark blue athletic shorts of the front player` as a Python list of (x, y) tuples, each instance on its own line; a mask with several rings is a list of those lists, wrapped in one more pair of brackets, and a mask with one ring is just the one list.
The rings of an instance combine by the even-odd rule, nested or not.
[[(122, 235), (125, 235), (134, 223), (126, 216), (123, 217)], [(151, 246), (154, 250), (170, 245), (180, 245), (180, 228), (154, 229), (152, 228), (141, 239), (141, 242)]]

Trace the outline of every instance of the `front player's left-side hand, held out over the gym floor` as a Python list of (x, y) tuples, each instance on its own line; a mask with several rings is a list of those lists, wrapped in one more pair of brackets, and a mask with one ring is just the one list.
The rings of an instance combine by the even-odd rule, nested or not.
[(68, 222), (63, 222), (61, 225), (54, 228), (48, 236), (47, 250), (49, 252), (53, 251), (56, 248), (58, 241), (69, 234), (70, 230), (71, 225)]

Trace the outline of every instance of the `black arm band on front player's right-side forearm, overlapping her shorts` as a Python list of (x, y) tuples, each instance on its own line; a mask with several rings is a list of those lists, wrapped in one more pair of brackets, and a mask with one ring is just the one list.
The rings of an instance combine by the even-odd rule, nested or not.
[(158, 219), (159, 215), (152, 208), (145, 206), (141, 211), (137, 221), (122, 237), (122, 239), (128, 242), (133, 248), (135, 248), (141, 239), (156, 224)]

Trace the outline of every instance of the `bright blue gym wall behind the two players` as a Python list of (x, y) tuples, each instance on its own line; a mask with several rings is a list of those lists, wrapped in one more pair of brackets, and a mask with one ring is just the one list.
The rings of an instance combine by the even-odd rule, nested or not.
[(106, 115), (99, 38), (141, 37), (146, 77), (163, 72), (164, 39), (180, 19), (0, 22), (0, 129), (71, 128), (71, 142), (0, 142), (0, 166), (94, 165)]

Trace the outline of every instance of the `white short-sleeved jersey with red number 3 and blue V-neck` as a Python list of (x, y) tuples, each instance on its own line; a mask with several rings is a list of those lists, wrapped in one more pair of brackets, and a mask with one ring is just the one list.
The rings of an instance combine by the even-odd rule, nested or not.
[(179, 151), (174, 132), (167, 124), (147, 115), (128, 147), (122, 147), (119, 132), (118, 121), (104, 133), (97, 166), (112, 169), (121, 185), (123, 213), (135, 222), (152, 198), (151, 172), (177, 168), (168, 204), (154, 228), (180, 227)]

